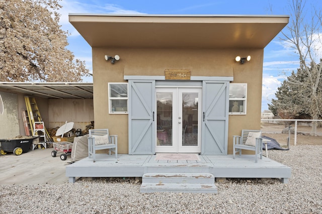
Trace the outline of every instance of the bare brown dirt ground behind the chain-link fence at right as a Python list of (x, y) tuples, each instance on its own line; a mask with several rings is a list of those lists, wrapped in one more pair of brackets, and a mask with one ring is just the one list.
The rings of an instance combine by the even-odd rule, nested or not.
[[(294, 128), (294, 125), (291, 125)], [(274, 124), (274, 123), (262, 123), (261, 130), (262, 135), (277, 140), (281, 146), (287, 144), (287, 137), (289, 134), (282, 134), (282, 130), (285, 125)], [(297, 126), (297, 140), (296, 145), (322, 145), (322, 127), (317, 128), (317, 136), (310, 136), (310, 126)], [(294, 145), (294, 134), (290, 135), (290, 145)]]

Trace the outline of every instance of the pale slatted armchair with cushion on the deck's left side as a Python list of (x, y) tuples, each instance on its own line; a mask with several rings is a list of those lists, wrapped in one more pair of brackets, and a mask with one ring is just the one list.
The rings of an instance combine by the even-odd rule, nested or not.
[(90, 129), (88, 143), (89, 158), (93, 158), (93, 162), (96, 161), (96, 150), (109, 149), (109, 155), (113, 150), (117, 158), (117, 135), (109, 135), (108, 129)]

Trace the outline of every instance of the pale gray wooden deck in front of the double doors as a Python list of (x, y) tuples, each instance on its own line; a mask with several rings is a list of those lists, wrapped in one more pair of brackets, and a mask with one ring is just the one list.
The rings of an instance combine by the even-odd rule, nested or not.
[(254, 155), (200, 155), (200, 161), (155, 160), (155, 155), (97, 154), (96, 162), (84, 158), (66, 166), (69, 182), (76, 177), (142, 177), (144, 173), (211, 173), (216, 178), (280, 178), (287, 183), (291, 168), (266, 158), (254, 161)]

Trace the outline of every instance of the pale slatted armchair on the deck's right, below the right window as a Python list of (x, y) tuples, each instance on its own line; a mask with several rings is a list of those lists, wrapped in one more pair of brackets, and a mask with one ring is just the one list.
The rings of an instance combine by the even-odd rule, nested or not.
[[(259, 137), (250, 139), (253, 141), (253, 145), (248, 145), (247, 139), (249, 138), (250, 133), (259, 133)], [(260, 155), (260, 159), (263, 159), (263, 138), (262, 132), (260, 130), (242, 130), (241, 136), (232, 136), (233, 137), (233, 159), (235, 159), (235, 153), (239, 152), (241, 155), (241, 150), (251, 150), (255, 151), (255, 163), (257, 163), (258, 155)]]

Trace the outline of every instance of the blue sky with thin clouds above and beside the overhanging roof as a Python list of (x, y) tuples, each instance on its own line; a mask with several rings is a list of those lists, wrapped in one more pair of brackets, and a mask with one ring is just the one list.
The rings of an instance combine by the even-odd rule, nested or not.
[[(290, 15), (288, 0), (62, 0), (60, 25), (68, 31), (68, 49), (76, 58), (85, 60), (92, 73), (92, 50), (89, 44), (68, 22), (69, 13), (81, 14), (217, 14), (217, 15)], [(319, 0), (307, 0), (306, 7), (318, 5)], [(309, 11), (308, 11), (309, 12)], [(284, 28), (286, 30), (286, 28)], [(267, 103), (275, 97), (277, 87), (285, 75), (299, 66), (294, 50), (287, 48), (279, 39), (279, 34), (264, 49), (262, 111), (268, 110)], [(92, 82), (92, 77), (84, 82)]]

